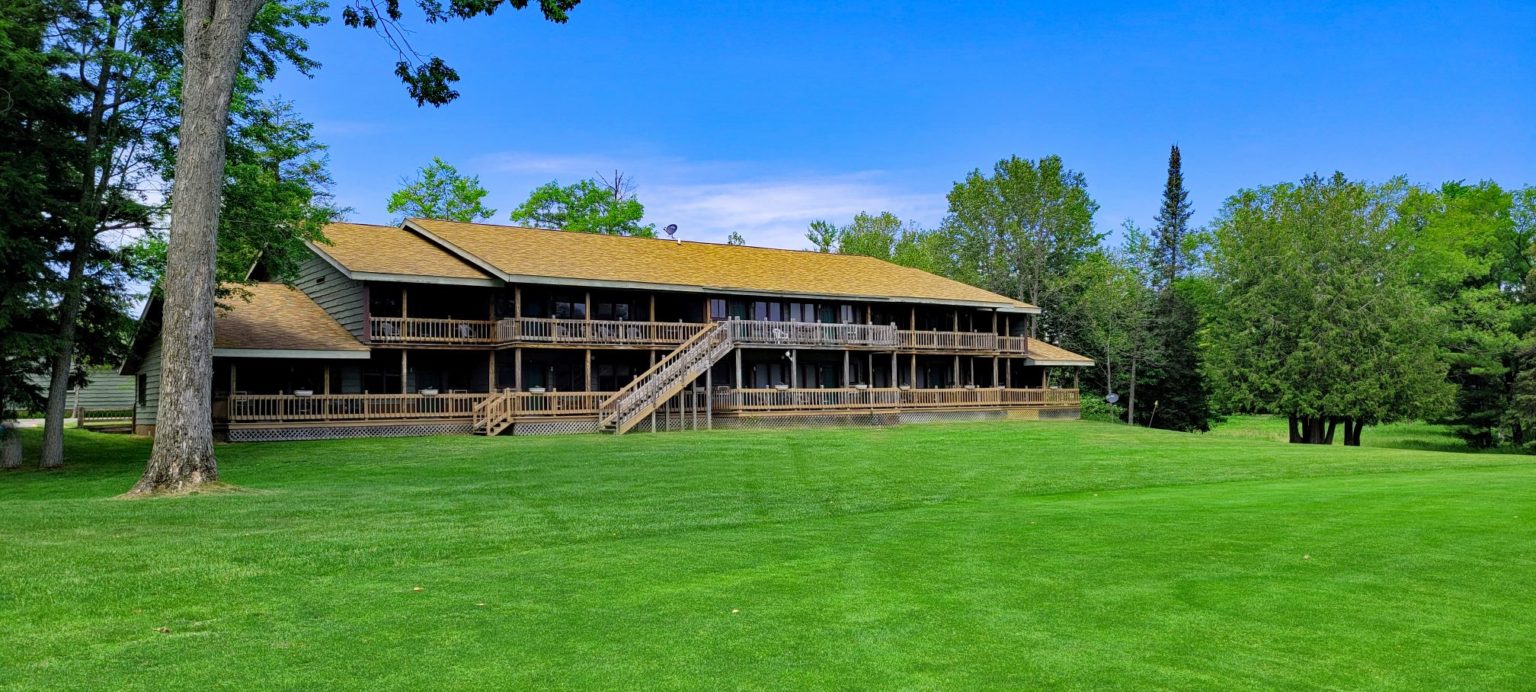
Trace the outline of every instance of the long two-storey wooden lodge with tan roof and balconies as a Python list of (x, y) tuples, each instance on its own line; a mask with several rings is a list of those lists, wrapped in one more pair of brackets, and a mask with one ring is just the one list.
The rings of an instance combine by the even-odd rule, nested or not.
[[(1023, 336), (1034, 305), (863, 256), (432, 219), (326, 236), (293, 287), (220, 308), (230, 440), (1077, 417), (1049, 371), (1092, 364)], [(123, 365), (146, 434), (158, 310)]]

